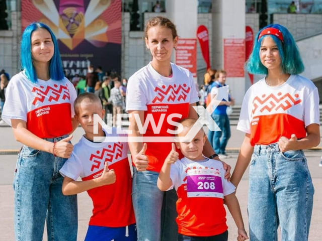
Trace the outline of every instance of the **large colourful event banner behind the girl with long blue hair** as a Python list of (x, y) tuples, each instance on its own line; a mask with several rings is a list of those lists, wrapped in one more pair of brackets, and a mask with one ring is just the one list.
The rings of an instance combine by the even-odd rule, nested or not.
[(48, 25), (58, 39), (66, 76), (86, 75), (89, 63), (121, 72), (121, 0), (22, 0), (22, 30)]

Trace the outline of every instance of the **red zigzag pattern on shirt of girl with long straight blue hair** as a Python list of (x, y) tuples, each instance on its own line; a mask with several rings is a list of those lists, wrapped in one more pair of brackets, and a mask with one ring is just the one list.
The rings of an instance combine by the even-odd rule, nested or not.
[(37, 101), (43, 103), (45, 97), (48, 96), (48, 101), (51, 102), (52, 100), (58, 101), (61, 97), (63, 100), (70, 99), (68, 86), (66, 85), (58, 85), (54, 84), (54, 88), (51, 86), (47, 86), (44, 90), (44, 86), (40, 85), (40, 88), (33, 87), (32, 92), (36, 93), (37, 96), (34, 98), (32, 102), (33, 105), (36, 105)]

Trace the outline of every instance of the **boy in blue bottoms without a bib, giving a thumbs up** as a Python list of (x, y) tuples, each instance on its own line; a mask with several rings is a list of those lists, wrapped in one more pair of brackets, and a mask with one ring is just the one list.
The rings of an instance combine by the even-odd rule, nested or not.
[[(124, 135), (117, 135), (114, 128), (112, 134), (108, 134), (101, 125), (98, 125), (98, 134), (94, 134), (94, 114), (103, 118), (105, 113), (101, 100), (94, 93), (79, 95), (74, 109), (85, 135), (74, 145), (71, 157), (60, 169), (64, 176), (62, 192), (71, 195), (87, 191), (93, 200), (86, 241), (136, 241), (128, 145), (121, 141), (104, 141)], [(94, 137), (104, 138), (102, 142), (94, 142)], [(76, 181), (78, 177), (82, 181)]]

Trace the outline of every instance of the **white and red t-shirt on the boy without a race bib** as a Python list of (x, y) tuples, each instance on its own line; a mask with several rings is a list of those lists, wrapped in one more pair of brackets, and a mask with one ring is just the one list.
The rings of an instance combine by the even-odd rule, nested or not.
[[(106, 138), (109, 136), (112, 134), (106, 133)], [(127, 152), (127, 143), (93, 143), (83, 136), (59, 170), (62, 176), (73, 180), (81, 177), (87, 181), (102, 175), (105, 162), (108, 162), (109, 169), (114, 169), (115, 183), (87, 191), (94, 206), (89, 225), (124, 227), (135, 223), (131, 198), (132, 176)]]

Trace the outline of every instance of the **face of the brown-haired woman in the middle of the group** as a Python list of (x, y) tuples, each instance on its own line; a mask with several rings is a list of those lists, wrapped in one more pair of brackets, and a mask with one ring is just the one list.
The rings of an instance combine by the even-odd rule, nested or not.
[(171, 54), (178, 44), (178, 37), (175, 39), (172, 30), (166, 27), (155, 26), (147, 31), (145, 38), (146, 48), (151, 51), (153, 59), (157, 61), (170, 61)]

